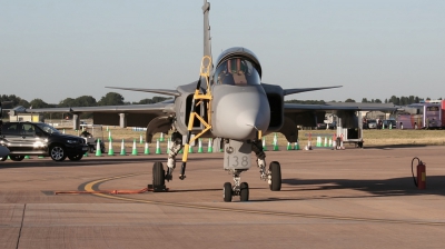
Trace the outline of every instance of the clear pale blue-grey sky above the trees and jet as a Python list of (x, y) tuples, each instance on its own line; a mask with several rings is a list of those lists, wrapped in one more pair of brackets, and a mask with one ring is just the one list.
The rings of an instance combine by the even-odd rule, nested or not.
[[(214, 59), (259, 58), (265, 83), (343, 86), (286, 99), (445, 97), (443, 0), (210, 0)], [(202, 0), (0, 0), (0, 94), (59, 103), (105, 87), (176, 89), (199, 77)]]

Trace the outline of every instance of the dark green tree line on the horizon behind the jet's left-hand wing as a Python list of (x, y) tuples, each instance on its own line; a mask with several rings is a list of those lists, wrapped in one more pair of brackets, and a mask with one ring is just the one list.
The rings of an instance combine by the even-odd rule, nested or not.
[[(38, 109), (38, 108), (58, 108), (58, 107), (98, 107), (98, 106), (125, 106), (125, 104), (146, 104), (146, 103), (157, 103), (161, 102), (165, 100), (168, 100), (171, 98), (165, 98), (165, 97), (159, 97), (156, 96), (151, 99), (141, 99), (140, 101), (135, 101), (135, 102), (129, 102), (125, 101), (123, 97), (117, 92), (108, 92), (105, 94), (99, 101), (96, 100), (96, 98), (91, 96), (81, 96), (76, 99), (73, 98), (66, 98), (61, 100), (59, 103), (48, 103), (43, 101), (42, 99), (33, 99), (31, 101), (27, 101), (26, 99), (22, 99), (20, 97), (17, 97), (16, 94), (2, 94), (0, 96), (0, 101), (1, 102), (7, 102), (3, 104), (4, 109), (10, 109), (14, 108), (18, 106), (22, 106), (24, 108), (32, 108), (32, 109)], [(7, 113), (3, 113), (7, 114)], [(51, 119), (58, 119), (62, 118), (62, 113), (52, 113), (52, 114), (44, 114), (44, 118), (51, 118)], [(8, 116), (6, 116), (8, 117)], [(80, 116), (81, 119), (88, 119), (91, 118), (92, 113), (82, 113)]]

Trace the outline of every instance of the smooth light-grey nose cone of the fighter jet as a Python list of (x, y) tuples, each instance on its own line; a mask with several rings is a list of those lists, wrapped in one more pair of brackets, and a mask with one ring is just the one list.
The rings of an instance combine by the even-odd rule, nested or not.
[(255, 139), (270, 122), (270, 108), (260, 86), (217, 86), (214, 89), (212, 133), (217, 137)]

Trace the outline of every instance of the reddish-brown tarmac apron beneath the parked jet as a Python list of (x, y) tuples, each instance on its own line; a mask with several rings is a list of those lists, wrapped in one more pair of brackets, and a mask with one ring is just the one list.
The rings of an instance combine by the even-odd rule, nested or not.
[[(284, 149), (284, 148), (281, 148)], [(166, 155), (33, 157), (0, 162), (0, 248), (444, 248), (445, 147), (267, 151), (281, 191), (256, 166), (241, 175), (249, 201), (222, 201), (222, 153), (192, 153), (168, 192), (55, 195), (142, 189)], [(426, 189), (412, 159), (426, 165)], [(253, 157), (254, 159), (254, 157)], [(415, 172), (414, 166), (414, 172)]]

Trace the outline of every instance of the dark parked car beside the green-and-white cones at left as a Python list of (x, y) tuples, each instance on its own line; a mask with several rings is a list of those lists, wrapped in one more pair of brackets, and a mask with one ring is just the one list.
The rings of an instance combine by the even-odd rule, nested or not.
[(67, 157), (78, 161), (88, 150), (85, 139), (63, 135), (43, 122), (4, 122), (1, 128), (0, 143), (10, 150), (13, 161), (24, 156), (49, 156), (55, 161)]

